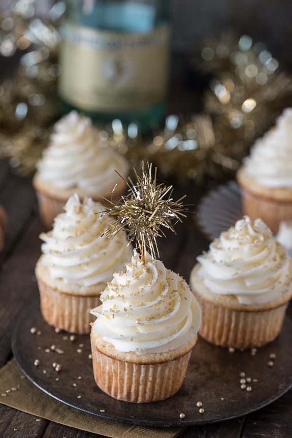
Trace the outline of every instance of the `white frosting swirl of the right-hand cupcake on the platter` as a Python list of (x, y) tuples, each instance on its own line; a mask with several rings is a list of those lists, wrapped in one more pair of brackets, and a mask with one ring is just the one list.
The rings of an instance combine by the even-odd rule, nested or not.
[(237, 221), (197, 260), (197, 275), (205, 286), (214, 294), (236, 297), (240, 304), (273, 301), (292, 281), (292, 260), (261, 219)]

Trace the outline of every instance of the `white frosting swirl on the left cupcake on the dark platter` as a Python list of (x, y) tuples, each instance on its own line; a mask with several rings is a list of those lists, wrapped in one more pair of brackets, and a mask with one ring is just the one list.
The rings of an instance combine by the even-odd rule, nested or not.
[(65, 213), (59, 214), (53, 229), (42, 233), (42, 264), (51, 278), (65, 283), (91, 286), (109, 281), (117, 269), (131, 260), (126, 235), (119, 232), (113, 239), (101, 235), (109, 226), (107, 216), (91, 198), (80, 202), (77, 194), (69, 198)]

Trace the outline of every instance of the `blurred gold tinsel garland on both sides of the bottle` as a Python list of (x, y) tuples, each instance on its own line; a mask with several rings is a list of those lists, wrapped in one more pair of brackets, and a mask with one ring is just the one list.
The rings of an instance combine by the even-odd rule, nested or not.
[[(34, 0), (17, 0), (0, 16), (0, 53), (23, 50), (14, 78), (0, 85), (0, 158), (21, 174), (35, 168), (46, 145), (49, 126), (58, 117), (56, 81), (63, 3), (55, 4), (45, 20), (34, 18)], [(292, 102), (292, 78), (262, 43), (232, 33), (205, 41), (193, 64), (211, 75), (204, 112), (189, 118), (170, 115), (160, 132), (142, 138), (131, 124), (119, 121), (100, 130), (104, 147), (117, 149), (134, 166), (153, 161), (161, 174), (179, 181), (220, 179), (233, 172), (255, 138), (262, 135), (283, 108)]]

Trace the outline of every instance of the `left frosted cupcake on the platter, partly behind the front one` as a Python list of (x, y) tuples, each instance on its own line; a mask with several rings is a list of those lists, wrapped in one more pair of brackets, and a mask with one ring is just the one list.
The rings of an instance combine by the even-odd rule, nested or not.
[(113, 273), (131, 260), (124, 231), (102, 236), (109, 219), (91, 198), (69, 198), (53, 229), (40, 238), (43, 254), (36, 266), (41, 312), (48, 324), (71, 333), (89, 333), (89, 310)]

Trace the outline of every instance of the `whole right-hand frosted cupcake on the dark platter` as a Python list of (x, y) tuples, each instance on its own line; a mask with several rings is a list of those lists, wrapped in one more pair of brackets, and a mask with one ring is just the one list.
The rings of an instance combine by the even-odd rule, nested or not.
[(203, 338), (244, 349), (278, 336), (292, 297), (292, 260), (261, 219), (245, 216), (197, 260), (190, 284)]

